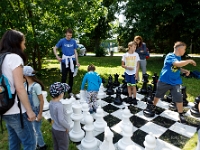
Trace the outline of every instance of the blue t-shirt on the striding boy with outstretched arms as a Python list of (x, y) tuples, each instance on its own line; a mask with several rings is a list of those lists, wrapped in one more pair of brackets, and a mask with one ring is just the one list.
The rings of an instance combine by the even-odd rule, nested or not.
[(174, 53), (167, 54), (160, 73), (160, 81), (170, 85), (182, 84), (180, 68), (173, 65), (175, 61), (181, 61), (181, 56), (176, 56)]

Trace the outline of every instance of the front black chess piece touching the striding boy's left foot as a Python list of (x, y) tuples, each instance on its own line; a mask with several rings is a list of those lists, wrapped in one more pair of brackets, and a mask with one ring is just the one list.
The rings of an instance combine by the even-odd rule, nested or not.
[(147, 107), (143, 110), (143, 114), (146, 117), (154, 117), (155, 116), (155, 108), (153, 105), (153, 94), (152, 91), (149, 91), (149, 96), (147, 97)]

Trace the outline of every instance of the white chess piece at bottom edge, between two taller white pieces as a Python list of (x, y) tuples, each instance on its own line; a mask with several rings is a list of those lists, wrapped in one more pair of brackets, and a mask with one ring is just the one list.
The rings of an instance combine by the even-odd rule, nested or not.
[(115, 146), (113, 144), (113, 132), (110, 131), (109, 127), (105, 127), (104, 131), (104, 141), (100, 145), (100, 150), (115, 150)]

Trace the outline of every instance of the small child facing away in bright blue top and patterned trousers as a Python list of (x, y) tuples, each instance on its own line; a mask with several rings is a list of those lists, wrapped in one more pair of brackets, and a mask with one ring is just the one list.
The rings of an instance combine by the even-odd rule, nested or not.
[(88, 72), (85, 74), (82, 84), (81, 90), (84, 90), (84, 86), (87, 83), (87, 103), (89, 104), (89, 112), (96, 112), (97, 109), (97, 94), (99, 91), (99, 87), (102, 83), (101, 77), (98, 73), (95, 72), (95, 66), (89, 65)]

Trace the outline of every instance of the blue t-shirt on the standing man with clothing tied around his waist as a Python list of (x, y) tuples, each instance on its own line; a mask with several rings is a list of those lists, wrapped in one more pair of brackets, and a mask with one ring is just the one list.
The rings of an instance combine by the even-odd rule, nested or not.
[(61, 48), (64, 55), (72, 56), (75, 54), (74, 49), (77, 49), (77, 44), (74, 39), (67, 40), (66, 38), (62, 38), (58, 41), (56, 47)]

